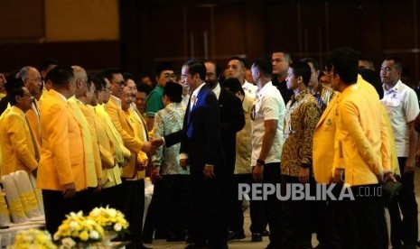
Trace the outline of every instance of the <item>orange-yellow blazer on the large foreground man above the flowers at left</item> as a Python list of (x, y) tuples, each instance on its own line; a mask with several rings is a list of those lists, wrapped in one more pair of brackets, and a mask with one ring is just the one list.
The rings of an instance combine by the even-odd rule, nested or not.
[(87, 189), (80, 124), (60, 93), (51, 89), (43, 95), (37, 188), (62, 190), (65, 184), (74, 182), (77, 191)]

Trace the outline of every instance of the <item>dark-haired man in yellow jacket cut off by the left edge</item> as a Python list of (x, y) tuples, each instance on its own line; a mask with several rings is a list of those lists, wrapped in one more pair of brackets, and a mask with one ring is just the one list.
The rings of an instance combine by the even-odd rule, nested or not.
[(33, 96), (21, 79), (5, 84), (11, 107), (0, 117), (1, 176), (14, 171), (34, 171), (40, 160), (39, 148), (24, 112), (31, 108)]

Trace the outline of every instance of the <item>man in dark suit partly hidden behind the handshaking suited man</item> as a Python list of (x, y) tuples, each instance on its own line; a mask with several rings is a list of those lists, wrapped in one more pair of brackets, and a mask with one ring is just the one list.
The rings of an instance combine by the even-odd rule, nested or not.
[[(242, 130), (245, 125), (244, 110), (242, 103), (238, 97), (235, 97), (229, 90), (220, 88), (218, 82), (220, 69), (216, 62), (206, 60), (204, 65), (207, 69), (206, 85), (209, 87), (219, 100), (219, 113), (220, 113), (220, 135), (223, 144), (223, 152), (225, 152), (226, 158), (226, 172), (229, 176), (229, 180), (226, 181), (226, 207), (224, 211), (229, 220), (229, 240), (231, 239), (243, 239), (245, 238), (243, 227), (233, 226), (234, 224), (240, 224), (232, 220), (236, 213), (234, 208), (238, 202), (238, 185), (233, 180), (233, 172), (235, 170), (236, 160), (236, 139), (237, 133)], [(236, 190), (236, 191), (235, 191)], [(236, 193), (236, 194), (235, 194)], [(242, 208), (240, 209), (242, 212)]]

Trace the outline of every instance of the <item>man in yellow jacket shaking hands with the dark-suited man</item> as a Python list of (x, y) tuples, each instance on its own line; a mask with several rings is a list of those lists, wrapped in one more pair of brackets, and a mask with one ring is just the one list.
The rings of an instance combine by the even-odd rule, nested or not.
[[(110, 80), (112, 81), (112, 79)], [(131, 240), (135, 248), (145, 248), (142, 242), (143, 212), (145, 206), (145, 167), (147, 154), (153, 153), (152, 143), (147, 141), (147, 129), (135, 117), (131, 104), (135, 101), (133, 86), (121, 85), (120, 98), (111, 96), (106, 110), (121, 134), (124, 145), (131, 152), (131, 159), (123, 168), (121, 209), (130, 223)], [(119, 92), (119, 91), (117, 91)]]

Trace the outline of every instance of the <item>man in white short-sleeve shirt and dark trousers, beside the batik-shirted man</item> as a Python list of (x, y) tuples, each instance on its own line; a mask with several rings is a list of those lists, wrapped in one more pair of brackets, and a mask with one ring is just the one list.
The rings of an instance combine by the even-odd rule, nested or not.
[[(285, 117), (285, 101), (271, 83), (272, 65), (265, 59), (257, 59), (252, 65), (252, 78), (257, 83), (257, 98), (251, 112), (253, 180), (279, 184), (282, 135)], [(281, 211), (275, 195), (264, 201), (266, 218), (270, 228), (270, 244), (267, 248), (280, 248)]]

